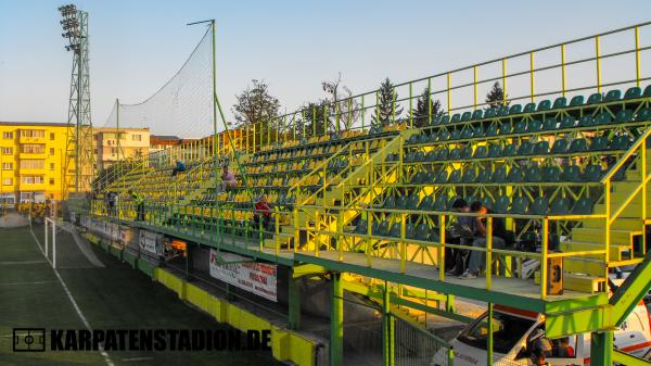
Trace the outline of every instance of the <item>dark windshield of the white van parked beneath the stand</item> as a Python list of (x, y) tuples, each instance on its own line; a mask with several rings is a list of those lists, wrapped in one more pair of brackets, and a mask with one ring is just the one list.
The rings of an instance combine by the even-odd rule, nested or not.
[[(509, 353), (534, 323), (532, 319), (505, 313), (493, 313), (493, 351), (501, 354)], [(484, 314), (477, 323), (461, 332), (458, 340), (468, 345), (486, 350), (488, 314)]]

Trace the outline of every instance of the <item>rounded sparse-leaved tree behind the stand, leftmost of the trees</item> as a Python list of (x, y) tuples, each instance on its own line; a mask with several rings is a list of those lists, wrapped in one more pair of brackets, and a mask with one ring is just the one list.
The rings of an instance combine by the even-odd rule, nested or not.
[[(235, 123), (229, 125), (230, 127), (250, 128), (251, 130), (255, 126), (257, 142), (268, 143), (276, 140), (276, 132), (282, 124), (282, 121), (278, 118), (280, 102), (278, 98), (269, 93), (269, 85), (264, 80), (253, 79), (252, 81), (253, 87), (246, 87), (240, 94), (235, 96), (238, 101), (231, 110)], [(250, 141), (253, 141), (253, 138)]]

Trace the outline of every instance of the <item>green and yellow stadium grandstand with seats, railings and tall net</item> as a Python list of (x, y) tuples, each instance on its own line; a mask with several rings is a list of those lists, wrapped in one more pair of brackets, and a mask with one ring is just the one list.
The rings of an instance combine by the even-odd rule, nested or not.
[[(388, 109), (373, 90), (232, 126), (210, 84), (208, 29), (170, 81), (143, 103), (117, 102), (104, 126), (203, 137), (113, 164), (68, 209), (93, 241), (210, 314), (195, 278), (209, 277), (208, 261), (278, 266), (278, 293), (253, 301), (283, 299), (280, 361), (356, 359), (345, 344), (362, 341), (346, 340), (344, 304), (357, 301), (381, 320), (368, 336), (379, 363), (461, 365), (468, 356), (430, 332), (429, 315), (471, 323), (457, 311), (465, 299), (487, 307), (478, 364), (526, 364), (494, 340), (499, 308), (539, 314), (552, 340), (591, 335), (577, 363), (643, 363), (613, 335), (651, 285), (649, 31), (634, 25), (401, 83)], [(501, 98), (484, 102), (496, 85)], [(483, 240), (464, 232), (477, 220)], [(181, 262), (125, 232), (166, 238)], [(327, 351), (301, 336), (312, 311), (304, 279), (329, 289)]]

